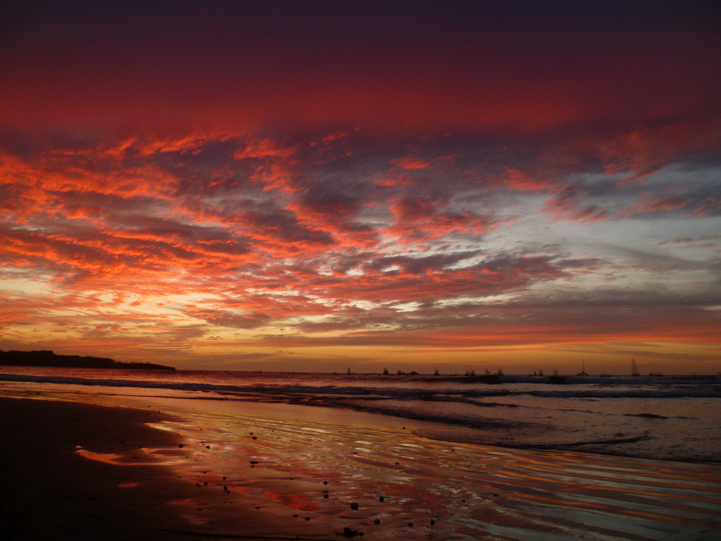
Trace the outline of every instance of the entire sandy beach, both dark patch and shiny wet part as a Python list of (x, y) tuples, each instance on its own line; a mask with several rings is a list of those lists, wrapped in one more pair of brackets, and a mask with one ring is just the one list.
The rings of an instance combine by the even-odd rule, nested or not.
[(451, 444), (327, 408), (82, 400), (105, 407), (0, 399), (9, 539), (721, 535), (718, 465)]

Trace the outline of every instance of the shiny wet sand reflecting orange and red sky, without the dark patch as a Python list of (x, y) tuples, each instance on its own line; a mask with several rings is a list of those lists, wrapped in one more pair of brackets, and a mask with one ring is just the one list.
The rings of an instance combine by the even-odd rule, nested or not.
[[(183, 503), (193, 532), (335, 539), (349, 527), (386, 539), (721, 538), (718, 465), (455, 444), (414, 434), (419, 423), (408, 420), (303, 416), (314, 408), (264, 404), (260, 413), (217, 401), (137, 402), (151, 400), (177, 414), (149, 423), (177, 434), (177, 444), (143, 449), (136, 454), (143, 460), (77, 453), (113, 465), (172, 465), (198, 488)], [(273, 532), (254, 532), (255, 523), (273, 524)]]

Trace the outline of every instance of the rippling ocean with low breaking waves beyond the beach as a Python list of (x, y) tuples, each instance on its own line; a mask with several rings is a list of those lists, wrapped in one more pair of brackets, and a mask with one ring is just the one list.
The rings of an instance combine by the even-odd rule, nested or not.
[(423, 422), (417, 436), (512, 449), (721, 462), (721, 377), (317, 374), (0, 368), (6, 395), (281, 403)]

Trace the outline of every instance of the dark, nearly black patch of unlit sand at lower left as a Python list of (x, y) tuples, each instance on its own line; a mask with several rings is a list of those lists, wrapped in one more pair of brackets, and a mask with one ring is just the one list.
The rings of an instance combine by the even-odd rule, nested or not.
[[(180, 438), (143, 424), (169, 417), (157, 410), (0, 398), (0, 539), (199, 539), (177, 532), (187, 531), (182, 516), (195, 483), (178, 480), (165, 465), (146, 464), (153, 459), (140, 449), (178, 449)], [(118, 464), (82, 457), (77, 446), (115, 454)], [(130, 466), (139, 461), (143, 465)], [(225, 493), (214, 492), (204, 494), (208, 503), (224, 500)]]

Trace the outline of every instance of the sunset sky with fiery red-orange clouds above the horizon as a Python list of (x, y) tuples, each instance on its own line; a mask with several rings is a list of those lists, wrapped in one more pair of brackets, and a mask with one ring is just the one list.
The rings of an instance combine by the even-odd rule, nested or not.
[(721, 370), (713, 1), (22, 1), (0, 349)]

